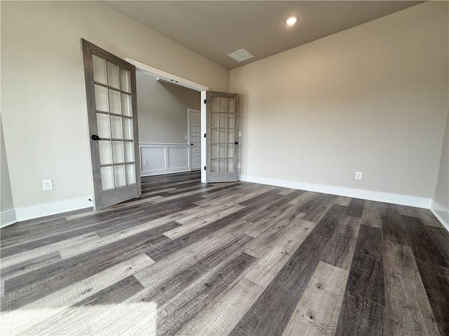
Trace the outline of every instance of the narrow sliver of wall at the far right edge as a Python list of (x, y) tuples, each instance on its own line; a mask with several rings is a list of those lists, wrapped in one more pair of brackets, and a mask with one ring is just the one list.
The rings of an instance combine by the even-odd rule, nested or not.
[(443, 147), (441, 148), (440, 168), (434, 199), (449, 210), (449, 116), (446, 121)]

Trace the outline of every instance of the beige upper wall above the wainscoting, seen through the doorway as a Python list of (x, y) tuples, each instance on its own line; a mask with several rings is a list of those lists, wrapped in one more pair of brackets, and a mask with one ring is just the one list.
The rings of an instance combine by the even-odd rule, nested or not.
[(187, 144), (187, 108), (201, 108), (200, 92), (138, 71), (139, 142)]

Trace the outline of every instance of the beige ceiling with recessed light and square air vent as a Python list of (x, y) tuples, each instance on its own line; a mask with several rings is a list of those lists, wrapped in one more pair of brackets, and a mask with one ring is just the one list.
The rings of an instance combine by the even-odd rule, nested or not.
[[(102, 1), (233, 69), (424, 1)], [(300, 20), (287, 27), (284, 20)], [(155, 46), (157, 48), (157, 46)], [(227, 57), (245, 48), (253, 58)]]

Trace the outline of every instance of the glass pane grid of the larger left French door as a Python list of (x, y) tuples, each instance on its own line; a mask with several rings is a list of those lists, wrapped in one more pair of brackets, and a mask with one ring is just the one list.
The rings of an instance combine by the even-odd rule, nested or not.
[(102, 190), (128, 186), (135, 183), (130, 71), (92, 58)]

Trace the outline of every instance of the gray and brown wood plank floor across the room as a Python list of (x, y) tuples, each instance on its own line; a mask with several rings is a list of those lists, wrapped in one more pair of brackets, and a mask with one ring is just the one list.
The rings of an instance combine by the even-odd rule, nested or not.
[(1, 229), (1, 335), (449, 335), (449, 234), (426, 209), (142, 179)]

